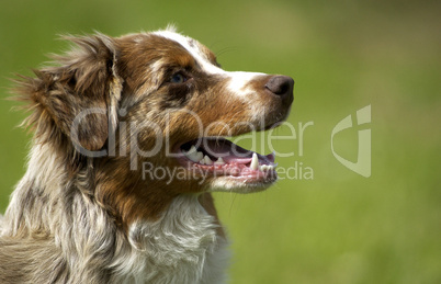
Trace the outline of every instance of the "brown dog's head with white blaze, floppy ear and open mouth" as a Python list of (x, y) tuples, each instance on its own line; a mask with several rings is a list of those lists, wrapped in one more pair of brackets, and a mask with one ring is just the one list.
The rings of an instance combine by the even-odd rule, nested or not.
[(98, 198), (145, 206), (181, 193), (258, 191), (276, 180), (272, 154), (224, 137), (284, 121), (290, 77), (225, 71), (207, 47), (171, 30), (70, 39), (77, 47), (58, 66), (23, 86), (41, 141), (68, 155), (71, 171), (93, 164)]

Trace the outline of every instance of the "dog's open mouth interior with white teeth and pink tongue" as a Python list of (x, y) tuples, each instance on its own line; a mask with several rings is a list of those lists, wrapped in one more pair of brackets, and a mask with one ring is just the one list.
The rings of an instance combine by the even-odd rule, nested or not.
[(179, 150), (181, 163), (203, 173), (241, 179), (248, 183), (276, 180), (274, 154), (263, 156), (222, 137), (191, 140), (182, 144)]

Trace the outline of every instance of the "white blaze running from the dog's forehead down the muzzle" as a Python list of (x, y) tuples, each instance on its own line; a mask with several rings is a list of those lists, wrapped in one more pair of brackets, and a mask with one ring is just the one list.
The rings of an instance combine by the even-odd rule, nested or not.
[(265, 73), (259, 72), (228, 72), (219, 67), (210, 63), (202, 50), (199, 48), (197, 43), (195, 39), (178, 34), (173, 31), (158, 31), (154, 34), (169, 38), (173, 42), (179, 43), (182, 47), (184, 47), (196, 60), (197, 65), (202, 68), (203, 71), (211, 73), (211, 75), (220, 75), (225, 78), (229, 78), (228, 82), (228, 90), (238, 94), (238, 95), (246, 95), (255, 93), (256, 90), (249, 86), (250, 81), (256, 79), (259, 76), (264, 76)]

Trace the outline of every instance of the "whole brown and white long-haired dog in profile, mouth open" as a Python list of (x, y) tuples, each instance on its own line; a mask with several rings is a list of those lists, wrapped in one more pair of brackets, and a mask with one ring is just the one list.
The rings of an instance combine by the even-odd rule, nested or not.
[(0, 283), (222, 283), (211, 192), (276, 180), (274, 155), (223, 137), (286, 118), (294, 81), (228, 72), (173, 29), (69, 37), (18, 90), (34, 132), (0, 218)]

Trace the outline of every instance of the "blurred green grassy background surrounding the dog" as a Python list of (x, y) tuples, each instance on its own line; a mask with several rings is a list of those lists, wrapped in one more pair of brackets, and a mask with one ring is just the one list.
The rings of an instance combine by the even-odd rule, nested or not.
[[(0, 212), (31, 139), (16, 127), (25, 114), (4, 99), (8, 78), (65, 50), (59, 34), (117, 36), (176, 23), (227, 70), (296, 81), (289, 120), (296, 136), (272, 143), (294, 152), (278, 158), (291, 177), (262, 193), (215, 195), (233, 240), (230, 283), (441, 283), (440, 8), (430, 0), (3, 2)], [(337, 123), (366, 105), (372, 123), (333, 144), (357, 161), (358, 132), (370, 128), (369, 178), (342, 166), (330, 145)]]

